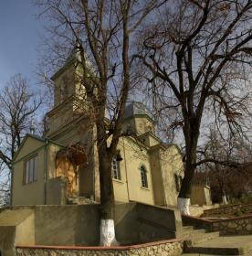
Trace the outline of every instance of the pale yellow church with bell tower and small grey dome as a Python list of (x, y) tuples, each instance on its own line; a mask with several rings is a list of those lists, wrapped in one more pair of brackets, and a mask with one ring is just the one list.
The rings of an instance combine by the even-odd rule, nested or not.
[[(83, 106), (72, 51), (53, 76), (54, 107), (47, 113), (43, 137), (26, 134), (13, 159), (11, 204), (66, 205), (100, 201), (95, 129)], [(80, 103), (81, 102), (81, 103)], [(85, 105), (85, 104), (84, 104)], [(151, 113), (141, 102), (125, 109), (121, 137), (111, 165), (116, 202), (136, 201), (175, 206), (183, 178), (183, 161), (175, 144), (155, 134)]]

